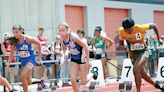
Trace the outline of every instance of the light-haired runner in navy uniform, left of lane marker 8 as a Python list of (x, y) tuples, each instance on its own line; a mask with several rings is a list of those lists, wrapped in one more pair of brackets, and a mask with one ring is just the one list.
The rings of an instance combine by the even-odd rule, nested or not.
[[(70, 27), (67, 23), (61, 23), (58, 26), (59, 34), (62, 37), (62, 44), (64, 48), (69, 48), (71, 53), (71, 64), (70, 64), (70, 80), (74, 92), (80, 92), (77, 85), (77, 76), (80, 72), (81, 84), (84, 85), (88, 82), (86, 69), (89, 68), (89, 49), (88, 46), (82, 42), (78, 37), (70, 32)], [(85, 49), (86, 62), (81, 61), (82, 48)]]

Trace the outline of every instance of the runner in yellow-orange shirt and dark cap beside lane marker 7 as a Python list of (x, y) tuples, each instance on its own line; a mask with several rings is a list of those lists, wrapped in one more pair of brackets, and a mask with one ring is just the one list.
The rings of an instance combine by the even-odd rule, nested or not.
[(157, 82), (154, 82), (146, 73), (144, 65), (148, 60), (148, 55), (146, 54), (147, 46), (144, 41), (146, 31), (149, 29), (154, 29), (158, 41), (158, 29), (155, 24), (135, 24), (133, 19), (125, 18), (122, 21), (122, 27), (119, 29), (119, 45), (120, 49), (126, 49), (123, 46), (123, 40), (125, 39), (128, 43), (129, 54), (134, 65), (133, 72), (135, 76), (136, 89), (140, 92), (141, 89), (141, 78), (145, 79), (150, 84), (154, 85), (156, 88), (164, 91), (163, 87), (160, 87)]

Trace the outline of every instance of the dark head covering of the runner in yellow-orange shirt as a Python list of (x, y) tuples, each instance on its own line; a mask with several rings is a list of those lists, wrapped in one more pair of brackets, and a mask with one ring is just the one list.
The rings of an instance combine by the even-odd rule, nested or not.
[(132, 18), (129, 18), (129, 17), (128, 18), (124, 18), (123, 21), (122, 21), (122, 27), (124, 29), (131, 28), (134, 25), (135, 25), (135, 23), (134, 23), (134, 20)]

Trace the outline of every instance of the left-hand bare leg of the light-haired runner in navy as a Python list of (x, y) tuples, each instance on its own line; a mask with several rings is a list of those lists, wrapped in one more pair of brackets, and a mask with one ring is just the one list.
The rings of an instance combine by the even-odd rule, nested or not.
[(76, 82), (78, 73), (79, 73), (79, 65), (75, 62), (71, 62), (70, 80), (71, 80), (74, 92), (80, 92), (78, 85), (77, 85), (77, 82)]

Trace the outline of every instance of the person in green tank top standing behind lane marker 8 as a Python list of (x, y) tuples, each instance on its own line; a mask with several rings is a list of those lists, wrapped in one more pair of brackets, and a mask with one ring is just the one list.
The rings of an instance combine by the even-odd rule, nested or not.
[(101, 35), (101, 28), (96, 27), (94, 32), (94, 37), (92, 38), (92, 48), (93, 53), (95, 54), (96, 59), (101, 59), (102, 66), (103, 66), (103, 74), (104, 79), (108, 77), (107, 75), (107, 69), (106, 69), (106, 61), (107, 61), (107, 55), (106, 55), (106, 48), (111, 47), (114, 43), (113, 40), (111, 40), (108, 37), (104, 37)]

